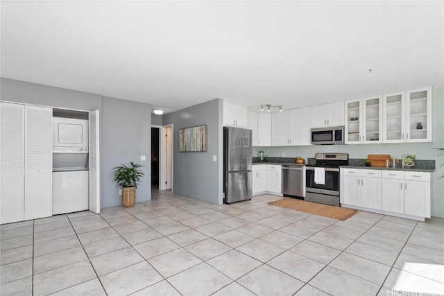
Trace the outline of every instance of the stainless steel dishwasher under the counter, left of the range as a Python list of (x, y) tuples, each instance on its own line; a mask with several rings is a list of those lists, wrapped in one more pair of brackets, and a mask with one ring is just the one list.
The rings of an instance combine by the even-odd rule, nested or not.
[(282, 193), (305, 198), (305, 166), (282, 166)]

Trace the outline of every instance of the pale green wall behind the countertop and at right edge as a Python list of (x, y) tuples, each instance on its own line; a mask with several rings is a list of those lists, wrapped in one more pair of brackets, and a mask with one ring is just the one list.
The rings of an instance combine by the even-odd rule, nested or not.
[(374, 153), (389, 154), (400, 158), (403, 154), (415, 154), (417, 159), (435, 159), (436, 172), (432, 175), (432, 216), (444, 217), (444, 155), (438, 156), (434, 148), (444, 147), (444, 88), (433, 92), (433, 142), (432, 143), (391, 143), (334, 146), (290, 146), (290, 147), (253, 147), (253, 156), (264, 150), (268, 157), (314, 157), (316, 153), (348, 153), (350, 158), (367, 158)]

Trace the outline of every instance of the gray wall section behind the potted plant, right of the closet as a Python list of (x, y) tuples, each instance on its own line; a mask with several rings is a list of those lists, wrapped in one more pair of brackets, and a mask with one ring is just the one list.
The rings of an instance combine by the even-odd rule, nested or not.
[[(136, 201), (151, 200), (151, 105), (104, 96), (102, 110), (102, 207), (121, 204), (119, 188), (112, 182), (112, 168), (130, 162), (144, 165)], [(146, 161), (140, 160), (141, 155)]]

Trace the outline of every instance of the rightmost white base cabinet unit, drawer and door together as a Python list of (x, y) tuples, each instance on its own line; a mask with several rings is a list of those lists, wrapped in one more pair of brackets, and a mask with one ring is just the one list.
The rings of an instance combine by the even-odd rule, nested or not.
[(430, 218), (430, 173), (404, 173), (404, 214)]

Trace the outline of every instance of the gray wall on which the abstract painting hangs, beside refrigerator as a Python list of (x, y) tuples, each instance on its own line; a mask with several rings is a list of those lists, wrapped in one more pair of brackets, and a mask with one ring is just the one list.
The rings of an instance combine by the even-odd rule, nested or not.
[[(215, 99), (165, 114), (163, 125), (173, 125), (173, 192), (213, 204), (223, 202), (222, 100)], [(179, 153), (178, 131), (207, 125), (207, 151)], [(216, 155), (217, 161), (212, 160)]]

